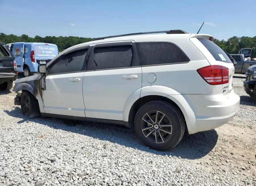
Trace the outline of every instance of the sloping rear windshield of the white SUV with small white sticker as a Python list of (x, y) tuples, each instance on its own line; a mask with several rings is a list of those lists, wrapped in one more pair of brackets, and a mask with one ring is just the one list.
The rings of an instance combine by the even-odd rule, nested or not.
[(198, 40), (208, 49), (216, 61), (232, 63), (227, 54), (214, 42), (203, 38), (198, 38)]

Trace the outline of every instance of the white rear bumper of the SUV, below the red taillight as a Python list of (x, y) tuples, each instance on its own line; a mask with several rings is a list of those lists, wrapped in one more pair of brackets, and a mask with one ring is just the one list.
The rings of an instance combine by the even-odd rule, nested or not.
[(189, 134), (216, 129), (234, 118), (239, 110), (240, 97), (219, 95), (184, 95), (195, 114), (195, 123), (187, 123)]

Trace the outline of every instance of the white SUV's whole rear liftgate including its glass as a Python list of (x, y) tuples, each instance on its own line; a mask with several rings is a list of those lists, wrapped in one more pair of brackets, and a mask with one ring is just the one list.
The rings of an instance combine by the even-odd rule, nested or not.
[[(235, 67), (226, 53), (213, 42), (213, 37), (205, 34), (191, 34), (190, 40), (197, 46), (197, 48), (203, 53), (206, 59), (209, 61), (210, 65), (220, 65), (226, 67), (222, 70), (224, 72), (223, 80), (227, 83), (221, 85), (215, 85), (213, 90), (214, 94), (227, 95), (232, 91), (233, 75), (235, 72)], [(195, 40), (197, 39), (197, 41)], [(227, 72), (228, 71), (228, 72)]]

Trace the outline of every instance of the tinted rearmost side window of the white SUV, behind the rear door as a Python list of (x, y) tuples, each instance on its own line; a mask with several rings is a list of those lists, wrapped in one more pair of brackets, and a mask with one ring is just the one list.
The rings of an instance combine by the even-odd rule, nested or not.
[(173, 43), (136, 43), (142, 66), (189, 62), (185, 53)]

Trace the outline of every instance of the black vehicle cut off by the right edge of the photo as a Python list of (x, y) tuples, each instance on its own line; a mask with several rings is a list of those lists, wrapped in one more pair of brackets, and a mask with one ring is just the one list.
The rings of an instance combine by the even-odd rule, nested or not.
[(246, 79), (243, 81), (243, 88), (250, 96), (256, 96), (256, 69), (248, 69), (245, 73)]

